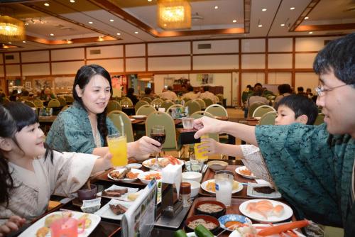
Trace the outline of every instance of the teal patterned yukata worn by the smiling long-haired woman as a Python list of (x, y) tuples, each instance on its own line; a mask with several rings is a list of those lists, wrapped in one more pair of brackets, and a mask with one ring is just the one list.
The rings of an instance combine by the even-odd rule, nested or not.
[[(106, 123), (108, 135), (118, 133), (114, 123), (109, 118), (106, 118)], [(45, 142), (51, 148), (61, 152), (92, 154), (96, 145), (87, 111), (75, 101), (69, 109), (60, 112), (50, 127)], [(101, 143), (104, 144), (104, 138), (102, 137)]]

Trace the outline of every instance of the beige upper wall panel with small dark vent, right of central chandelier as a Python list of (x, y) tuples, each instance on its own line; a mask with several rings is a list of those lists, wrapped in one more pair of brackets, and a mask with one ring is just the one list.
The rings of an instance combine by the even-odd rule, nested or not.
[[(209, 49), (199, 49), (198, 45), (211, 44)], [(192, 42), (194, 54), (202, 53), (238, 53), (239, 40), (206, 40)]]

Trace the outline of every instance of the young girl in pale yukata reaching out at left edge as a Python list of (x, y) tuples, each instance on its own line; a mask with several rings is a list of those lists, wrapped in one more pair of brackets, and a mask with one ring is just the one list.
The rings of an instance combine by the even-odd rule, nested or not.
[(68, 197), (91, 174), (111, 167), (109, 153), (104, 158), (59, 153), (43, 140), (38, 117), (29, 106), (0, 106), (0, 226), (15, 215), (35, 219), (47, 209), (50, 195)]

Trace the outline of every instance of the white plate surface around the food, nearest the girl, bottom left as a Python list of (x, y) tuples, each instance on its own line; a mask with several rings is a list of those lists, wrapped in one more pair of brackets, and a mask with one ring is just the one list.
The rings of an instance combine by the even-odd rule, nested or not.
[[(52, 212), (46, 216), (43, 216), (41, 219), (39, 219), (38, 221), (35, 221), (34, 224), (32, 224), (30, 227), (26, 228), (25, 231), (23, 231), (21, 233), (21, 235), (19, 235), (19, 237), (28, 237), (28, 236), (35, 236), (35, 233), (38, 231), (39, 228), (45, 226), (45, 219), (48, 216), (51, 216), (53, 214), (62, 214), (63, 212), (67, 212), (67, 211), (55, 211)], [(84, 215), (85, 213), (79, 212), (79, 211), (71, 211), (72, 212), (72, 218), (75, 219), (79, 219), (80, 216)], [(95, 214), (89, 214), (89, 219), (91, 219), (91, 225), (89, 226), (89, 228), (85, 228), (83, 233), (78, 234), (79, 237), (85, 237), (85, 236), (89, 236), (90, 233), (92, 233), (92, 231), (94, 231), (94, 229), (96, 228), (96, 226), (99, 224), (99, 222), (101, 221), (101, 217), (97, 216)], [(49, 231), (49, 233), (46, 235), (46, 237), (50, 237), (51, 233)]]

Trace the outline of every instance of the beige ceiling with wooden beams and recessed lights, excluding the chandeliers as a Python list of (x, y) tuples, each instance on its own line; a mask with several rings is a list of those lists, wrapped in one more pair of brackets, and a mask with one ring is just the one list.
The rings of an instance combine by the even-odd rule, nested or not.
[[(71, 3), (69, 0), (3, 0), (0, 3), (0, 13), (9, 14), (6, 11), (9, 11), (7, 7), (10, 7), (11, 16), (28, 23), (26, 43), (13, 42), (11, 45), (21, 48), (11, 50), (163, 40), (309, 35), (310, 29), (313, 31), (312, 35), (355, 31), (355, 1), (351, 0), (191, 0), (192, 28), (180, 31), (163, 31), (158, 28), (156, 2), (76, 0)], [(45, 6), (45, 3), (50, 5)], [(218, 9), (215, 9), (215, 6), (218, 6)], [(291, 7), (295, 9), (290, 10)], [(300, 27), (297, 28), (297, 19), (305, 13), (309, 19), (298, 21)], [(234, 19), (236, 23), (233, 23)], [(282, 23), (285, 23), (285, 26), (280, 26)], [(258, 24), (263, 26), (258, 27)], [(290, 31), (292, 26), (295, 26), (295, 31), (302, 31)], [(51, 33), (54, 35), (50, 36)], [(107, 37), (103, 38), (104, 41), (99, 41), (99, 36), (105, 35)], [(111, 40), (106, 41), (108, 39)]]

